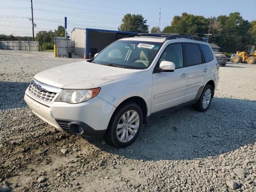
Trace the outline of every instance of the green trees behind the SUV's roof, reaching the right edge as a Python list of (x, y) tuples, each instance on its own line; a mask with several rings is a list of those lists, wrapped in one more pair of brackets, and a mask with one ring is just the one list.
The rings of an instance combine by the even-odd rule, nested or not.
[[(147, 20), (141, 14), (126, 14), (118, 30), (148, 33)], [(223, 52), (244, 51), (246, 45), (256, 45), (256, 20), (244, 20), (239, 12), (228, 16), (206, 18), (200, 15), (182, 13), (174, 16), (170, 26), (160, 31), (159, 26), (152, 33), (191, 34), (206, 37), (210, 26), (209, 42), (217, 44)]]

